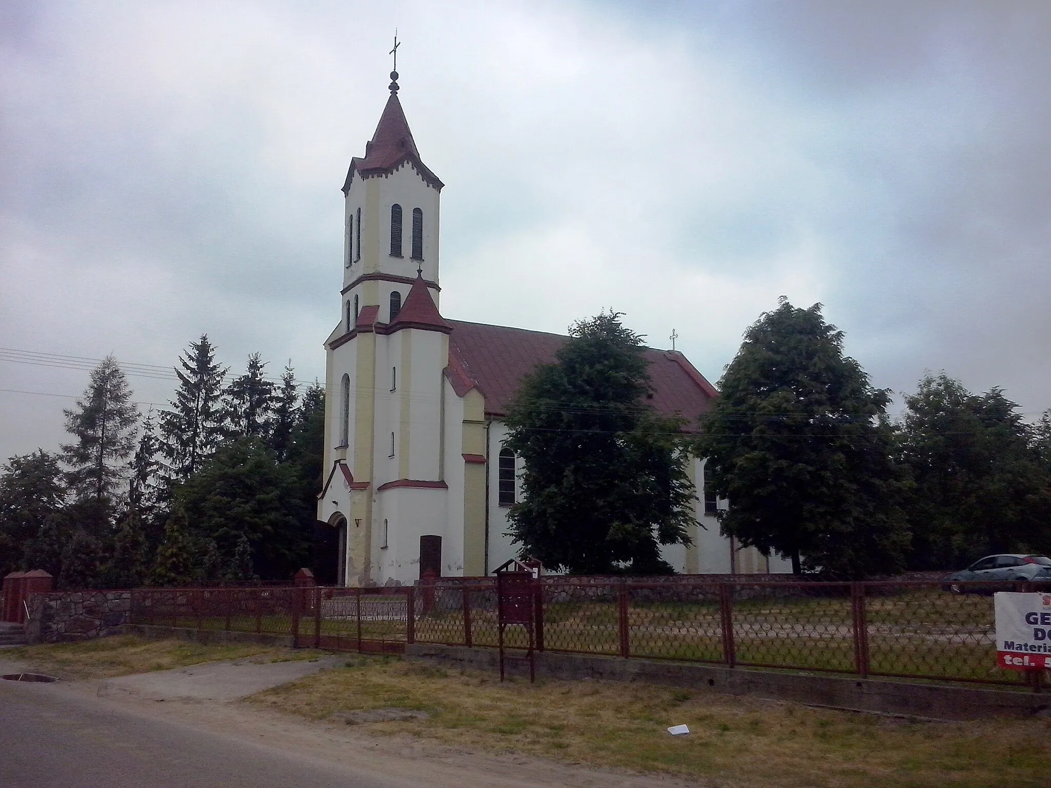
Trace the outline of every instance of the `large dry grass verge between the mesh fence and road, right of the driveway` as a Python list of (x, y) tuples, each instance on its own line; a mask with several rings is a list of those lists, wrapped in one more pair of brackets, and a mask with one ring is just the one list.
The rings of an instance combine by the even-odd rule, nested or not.
[[(427, 720), (358, 725), (471, 749), (667, 772), (755, 788), (1044, 786), (1051, 721), (910, 723), (790, 703), (697, 694), (651, 684), (523, 681), (354, 657), (253, 697), (325, 720), (339, 711), (406, 708)], [(672, 737), (669, 725), (692, 733)]]

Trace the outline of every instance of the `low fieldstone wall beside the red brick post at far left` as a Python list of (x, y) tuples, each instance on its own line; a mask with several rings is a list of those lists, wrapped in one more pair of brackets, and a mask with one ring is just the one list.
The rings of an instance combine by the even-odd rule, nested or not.
[(120, 635), (129, 623), (129, 590), (34, 594), (25, 636), (29, 643), (67, 643)]

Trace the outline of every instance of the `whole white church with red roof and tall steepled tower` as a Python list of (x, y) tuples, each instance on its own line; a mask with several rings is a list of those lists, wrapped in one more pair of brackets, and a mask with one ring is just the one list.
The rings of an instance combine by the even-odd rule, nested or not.
[[(351, 160), (339, 322), (325, 343), (325, 483), (317, 519), (338, 545), (339, 585), (406, 585), (426, 571), (480, 576), (517, 555), (508, 511), (521, 461), (503, 447), (519, 381), (568, 337), (442, 316), (444, 184), (419, 155), (397, 72), (365, 155)], [(652, 405), (691, 422), (718, 396), (678, 351), (646, 350)], [(663, 557), (677, 572), (788, 572), (720, 536), (723, 505), (692, 458), (697, 525)]]

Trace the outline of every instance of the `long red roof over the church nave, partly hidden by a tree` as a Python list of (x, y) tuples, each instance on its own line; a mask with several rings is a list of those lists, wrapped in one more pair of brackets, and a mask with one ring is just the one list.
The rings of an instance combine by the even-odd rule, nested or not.
[[(486, 412), (504, 416), (522, 377), (538, 364), (555, 360), (556, 351), (569, 339), (542, 331), (489, 326), (481, 323), (446, 320), (453, 327), (449, 337), (449, 378), (458, 396), (477, 387), (486, 397)], [(695, 419), (712, 407), (715, 387), (679, 352), (646, 348), (650, 380), (654, 389), (650, 403), (663, 415), (679, 414)]]

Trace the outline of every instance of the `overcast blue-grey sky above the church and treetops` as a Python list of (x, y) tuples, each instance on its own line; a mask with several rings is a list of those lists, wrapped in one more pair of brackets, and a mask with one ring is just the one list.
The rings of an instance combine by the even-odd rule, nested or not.
[(0, 461), (110, 353), (144, 412), (203, 333), (324, 379), (395, 28), (445, 316), (614, 309), (718, 381), (784, 295), (892, 411), (943, 370), (1051, 407), (1044, 0), (5, 0)]

